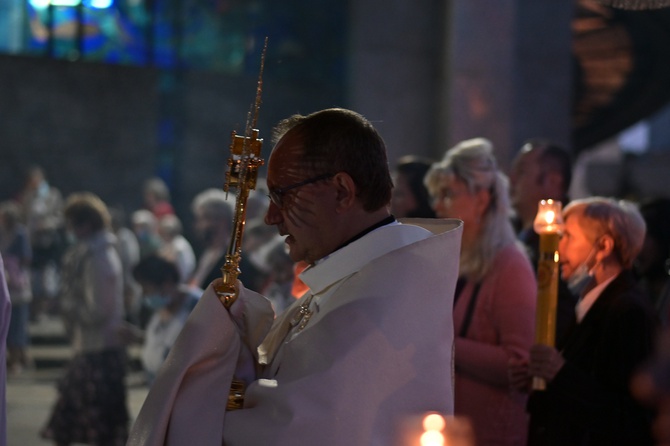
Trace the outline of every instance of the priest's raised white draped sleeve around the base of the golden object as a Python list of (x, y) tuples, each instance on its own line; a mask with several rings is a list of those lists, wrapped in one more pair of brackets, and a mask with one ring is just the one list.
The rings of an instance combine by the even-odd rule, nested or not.
[[(128, 446), (221, 445), (232, 378), (263, 339), (274, 314), (264, 297), (242, 288), (243, 320), (233, 321), (210, 285), (170, 350), (135, 421)], [(252, 327), (242, 343), (237, 325)], [(253, 345), (253, 343), (256, 343)]]

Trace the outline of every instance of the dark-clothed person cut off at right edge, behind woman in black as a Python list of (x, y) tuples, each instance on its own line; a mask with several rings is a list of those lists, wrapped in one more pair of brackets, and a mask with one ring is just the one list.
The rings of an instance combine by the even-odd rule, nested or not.
[(657, 198), (640, 206), (647, 224), (635, 270), (663, 326), (670, 323), (670, 199)]

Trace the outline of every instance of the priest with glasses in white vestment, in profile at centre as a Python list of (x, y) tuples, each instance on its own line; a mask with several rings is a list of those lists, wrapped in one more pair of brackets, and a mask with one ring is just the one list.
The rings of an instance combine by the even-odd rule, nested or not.
[[(412, 417), (453, 413), (461, 222), (390, 214), (385, 145), (356, 112), (293, 116), (276, 140), (265, 222), (309, 264), (309, 291), (273, 320), (260, 295), (240, 286), (226, 310), (210, 285), (131, 446), (393, 444)], [(244, 406), (226, 411), (233, 375), (246, 380)]]

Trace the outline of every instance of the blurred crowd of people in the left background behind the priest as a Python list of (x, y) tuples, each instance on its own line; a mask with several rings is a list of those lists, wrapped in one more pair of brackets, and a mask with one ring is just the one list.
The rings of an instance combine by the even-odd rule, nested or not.
[[(126, 215), (91, 192), (63, 197), (33, 167), (17, 197), (0, 202), (3, 286), (11, 299), (11, 314), (3, 310), (3, 370), (12, 379), (34, 366), (31, 322), (62, 320), (75, 352), (41, 431), (56, 444), (125, 443), (124, 380), (133, 367), (126, 347), (142, 346), (150, 386), (202, 288), (221, 276), (234, 198), (215, 189), (194, 198), (194, 242), (205, 247), (196, 256), (163, 180), (148, 179), (143, 194), (145, 207)], [(261, 209), (265, 194), (250, 200)], [(242, 278), (283, 308), (295, 300), (293, 262), (276, 252), (273, 228), (254, 230), (258, 216), (250, 218)]]

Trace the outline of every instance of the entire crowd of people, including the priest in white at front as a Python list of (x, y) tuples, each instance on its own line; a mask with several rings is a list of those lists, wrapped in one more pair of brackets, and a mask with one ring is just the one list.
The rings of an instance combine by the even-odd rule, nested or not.
[[(381, 136), (344, 109), (290, 117), (275, 135), (230, 308), (211, 286), (233, 219), (221, 190), (192, 201), (197, 256), (158, 178), (128, 226), (90, 192), (63, 200), (41, 169), (0, 204), (10, 375), (30, 366), (31, 313), (62, 317), (77, 353), (45, 438), (386, 445), (430, 411), (464, 420), (480, 446), (670, 437), (652, 428), (670, 396), (649, 396), (670, 395), (657, 342), (670, 201), (570, 201), (570, 154), (543, 140), (526, 142), (507, 176), (485, 138), (389, 169)], [(547, 198), (565, 223), (553, 346), (535, 341), (533, 221)], [(133, 342), (151, 390), (130, 429)], [(234, 382), (244, 404), (228, 410)]]

